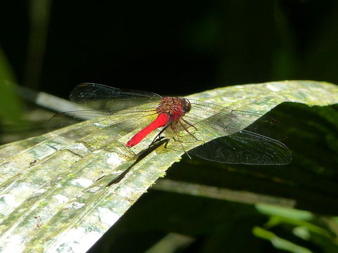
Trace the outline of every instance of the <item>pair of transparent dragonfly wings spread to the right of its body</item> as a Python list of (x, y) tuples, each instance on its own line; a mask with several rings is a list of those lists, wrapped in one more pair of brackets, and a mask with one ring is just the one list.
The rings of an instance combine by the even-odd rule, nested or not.
[(191, 102), (192, 110), (182, 118), (180, 132), (188, 149), (189, 143), (201, 143), (189, 151), (192, 155), (232, 164), (291, 162), (289, 149), (270, 138), (284, 136), (279, 122), (258, 113), (232, 110), (199, 100)]

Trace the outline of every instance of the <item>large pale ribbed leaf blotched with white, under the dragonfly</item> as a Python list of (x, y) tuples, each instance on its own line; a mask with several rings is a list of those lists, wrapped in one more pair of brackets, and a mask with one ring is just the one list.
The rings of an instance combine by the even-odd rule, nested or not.
[[(288, 81), (226, 87), (188, 98), (265, 113), (282, 102), (332, 105), (338, 103), (337, 94), (333, 84)], [(109, 146), (93, 148), (85, 140), (99, 125), (93, 123), (1, 146), (0, 250), (13, 252), (17, 245), (18, 252), (86, 251), (182, 155), (158, 146), (135, 161), (119, 143), (132, 133), (122, 133), (114, 142), (97, 139), (94, 143)], [(121, 181), (106, 187), (127, 168)]]

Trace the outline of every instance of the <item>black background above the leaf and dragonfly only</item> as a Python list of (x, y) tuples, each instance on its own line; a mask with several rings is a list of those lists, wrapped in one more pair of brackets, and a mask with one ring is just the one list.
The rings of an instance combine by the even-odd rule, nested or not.
[(80, 82), (161, 94), (314, 79), (338, 82), (338, 3), (1, 1), (19, 84), (66, 97)]

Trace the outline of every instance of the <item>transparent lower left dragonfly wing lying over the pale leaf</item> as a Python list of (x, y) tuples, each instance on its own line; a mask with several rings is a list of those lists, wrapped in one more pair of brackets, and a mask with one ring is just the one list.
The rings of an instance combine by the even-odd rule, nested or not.
[(112, 115), (109, 112), (81, 110), (54, 115), (48, 126), (52, 130), (79, 123), (73, 125), (69, 131), (60, 131), (59, 134), (73, 141), (80, 141), (91, 150), (111, 149), (124, 146), (132, 134), (153, 122), (156, 117), (156, 111), (151, 110), (118, 112)]

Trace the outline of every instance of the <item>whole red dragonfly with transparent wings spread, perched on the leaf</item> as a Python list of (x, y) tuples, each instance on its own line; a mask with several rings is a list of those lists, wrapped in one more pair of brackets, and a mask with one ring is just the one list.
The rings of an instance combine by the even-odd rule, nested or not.
[[(173, 140), (175, 149), (179, 147), (184, 153), (215, 162), (276, 165), (292, 160), (289, 149), (270, 138), (280, 135), (278, 123), (254, 112), (91, 83), (76, 86), (70, 93), (70, 100), (90, 110), (62, 112), (52, 119), (61, 116), (82, 120), (99, 118), (89, 124), (104, 122), (101, 125), (106, 136), (101, 139), (107, 141), (137, 131), (125, 143), (127, 148), (158, 132), (154, 141), (160, 136), (168, 137)], [(118, 123), (111, 123), (113, 119), (118, 119)], [(261, 123), (251, 124), (257, 119)]]

